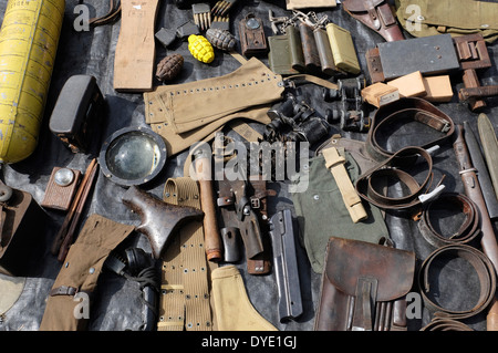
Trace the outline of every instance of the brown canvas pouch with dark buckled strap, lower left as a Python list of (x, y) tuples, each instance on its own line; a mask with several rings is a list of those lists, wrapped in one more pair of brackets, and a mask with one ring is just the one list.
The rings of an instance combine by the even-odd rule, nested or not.
[(134, 229), (96, 214), (89, 217), (50, 291), (40, 331), (86, 330), (87, 305), (93, 302), (104, 262)]

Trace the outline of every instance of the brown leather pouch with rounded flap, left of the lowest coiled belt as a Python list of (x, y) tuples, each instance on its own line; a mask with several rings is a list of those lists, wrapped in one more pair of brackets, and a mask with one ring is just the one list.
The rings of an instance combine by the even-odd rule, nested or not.
[(405, 295), (415, 253), (386, 245), (330, 238), (317, 331), (406, 330)]

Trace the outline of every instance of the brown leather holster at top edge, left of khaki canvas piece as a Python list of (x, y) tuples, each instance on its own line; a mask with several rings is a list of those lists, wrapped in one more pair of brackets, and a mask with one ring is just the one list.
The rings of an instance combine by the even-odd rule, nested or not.
[(344, 0), (344, 10), (381, 34), (387, 42), (404, 40), (396, 18), (385, 0)]

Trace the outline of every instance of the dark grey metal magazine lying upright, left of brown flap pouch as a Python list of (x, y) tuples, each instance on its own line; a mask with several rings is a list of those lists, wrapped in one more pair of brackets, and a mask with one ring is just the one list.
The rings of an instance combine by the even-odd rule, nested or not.
[(283, 323), (302, 314), (292, 214), (289, 209), (281, 210), (271, 217), (269, 224), (279, 289), (279, 316), (280, 322)]

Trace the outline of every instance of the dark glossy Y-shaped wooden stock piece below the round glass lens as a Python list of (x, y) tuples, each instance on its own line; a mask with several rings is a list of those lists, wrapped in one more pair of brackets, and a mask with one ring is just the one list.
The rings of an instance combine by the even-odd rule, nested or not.
[(141, 217), (136, 230), (147, 237), (155, 259), (160, 257), (172, 232), (185, 221), (201, 219), (204, 211), (194, 207), (167, 204), (131, 186), (122, 203)]

